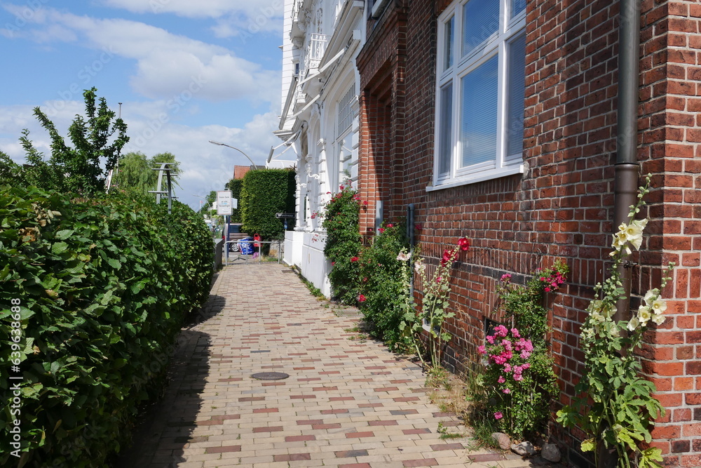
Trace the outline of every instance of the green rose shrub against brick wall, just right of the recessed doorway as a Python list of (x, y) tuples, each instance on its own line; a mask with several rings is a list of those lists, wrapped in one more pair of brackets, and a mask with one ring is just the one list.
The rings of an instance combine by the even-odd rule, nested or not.
[(404, 317), (402, 290), (403, 263), (397, 255), (406, 246), (404, 229), (392, 224), (379, 229), (372, 246), (360, 255), (360, 310), (372, 323), (374, 337), (392, 349), (401, 347), (400, 323)]

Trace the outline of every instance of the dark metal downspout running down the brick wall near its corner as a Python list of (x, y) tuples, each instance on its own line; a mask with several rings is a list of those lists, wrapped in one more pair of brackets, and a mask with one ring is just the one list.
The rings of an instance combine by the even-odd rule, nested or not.
[[(613, 232), (627, 222), (629, 207), (637, 202), (638, 93), (640, 49), (640, 0), (620, 0), (618, 29), (618, 131), (613, 189)], [(625, 262), (620, 279), (625, 299), (616, 304), (615, 320), (627, 320), (632, 265)]]

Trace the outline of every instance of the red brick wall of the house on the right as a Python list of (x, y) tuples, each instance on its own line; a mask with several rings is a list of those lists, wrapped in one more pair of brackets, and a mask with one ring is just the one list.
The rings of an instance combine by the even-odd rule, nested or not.
[[(402, 51), (402, 112), (388, 111), (393, 94), (379, 91), (394, 90), (401, 82), (391, 49), (402, 44), (402, 32), (382, 18), (380, 22), (388, 21), (385, 29), (375, 25), (361, 54), (361, 191), (363, 196), (381, 196), (373, 184), (386, 177), (383, 165), (401, 166), (402, 184), (397, 182), (400, 172), (387, 175), (395, 192), (383, 199), (386, 219), (397, 220), (414, 203), (416, 222), (423, 226), (418, 241), (433, 265), (460, 236), (472, 241), (456, 267), (451, 295), (457, 315), (448, 325), (454, 339), (447, 364), (458, 371), (484, 339), (484, 319), (499, 319), (493, 312), (501, 274), (510, 273), (523, 283), (536, 267), (556, 258), (566, 261), (569, 283), (549, 298), (562, 389), (559, 403), (566, 404), (582, 372), (578, 335), (583, 311), (593, 286), (604, 279), (613, 230), (618, 2), (529, 0), (525, 173), (427, 192), (435, 144), (436, 19), (448, 4), (416, 0), (404, 10), (411, 27)], [(663, 293), (672, 297), (667, 321), (648, 334), (641, 353), (667, 407), (653, 432), (653, 445), (662, 449), (669, 467), (701, 466), (700, 20), (701, 5), (695, 1), (642, 1), (638, 160), (641, 173), (653, 174), (655, 188), (644, 213), (651, 218), (651, 235), (636, 259), (640, 266), (634, 272), (633, 293), (639, 297), (658, 286), (666, 262), (680, 265), (674, 285)], [(391, 86), (378, 86), (386, 76), (392, 76)], [(390, 126), (395, 116), (402, 120), (389, 138), (403, 138), (384, 145), (380, 157), (373, 145), (376, 132), (386, 128), (387, 115), (392, 116)], [(385, 123), (377, 124), (381, 119)], [(374, 218), (371, 212), (368, 218)], [(632, 307), (637, 308), (637, 300)], [(582, 434), (554, 430), (564, 447), (578, 446)], [(570, 456), (586, 464), (576, 453)]]

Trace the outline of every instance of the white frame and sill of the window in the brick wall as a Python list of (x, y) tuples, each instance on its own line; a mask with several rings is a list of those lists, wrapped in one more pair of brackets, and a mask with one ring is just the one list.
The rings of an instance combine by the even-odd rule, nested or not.
[[(521, 11), (514, 18), (511, 17), (510, 8), (512, 0), (499, 1), (499, 26), (496, 32), (485, 39), (482, 44), (472, 48), (469, 53), (463, 55), (463, 18), (464, 8), (471, 0), (455, 0), (438, 18), (438, 48), (436, 63), (436, 98), (435, 98), (435, 145), (433, 185), (426, 187), (428, 191), (456, 187), (505, 175), (524, 172), (522, 158), (505, 154), (508, 142), (506, 140), (506, 127), (508, 126), (508, 46), (522, 34), (525, 34), (526, 11)], [(450, 67), (446, 67), (444, 60), (447, 56), (446, 32), (447, 23), (453, 18), (453, 60)], [(470, 72), (483, 65), (487, 60), (498, 55), (498, 91), (497, 91), (497, 124), (496, 124), (496, 158), (493, 161), (477, 163), (473, 166), (461, 168), (461, 79)], [(441, 89), (452, 83), (451, 100), (451, 154), (449, 171), (440, 173), (440, 137), (441, 131)], [(511, 158), (509, 156), (512, 156)]]

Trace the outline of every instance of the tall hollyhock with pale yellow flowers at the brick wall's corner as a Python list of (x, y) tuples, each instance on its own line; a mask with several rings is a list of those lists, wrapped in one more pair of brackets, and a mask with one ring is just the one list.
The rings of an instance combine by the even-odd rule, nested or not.
[[(643, 242), (648, 220), (636, 220), (644, 208), (644, 196), (650, 191), (651, 175), (639, 187), (638, 202), (631, 206), (627, 222), (618, 227), (611, 244), (611, 266), (603, 283), (594, 287), (594, 299), (587, 307), (581, 326), (580, 349), (584, 353), (584, 372), (575, 387), (571, 406), (557, 412), (557, 422), (564, 427), (578, 427), (588, 439), (581, 450), (594, 453), (599, 465), (599, 448), (613, 448), (618, 467), (661, 468), (662, 450), (648, 444), (655, 420), (665, 415), (665, 408), (655, 398), (655, 384), (641, 375), (643, 366), (638, 349), (644, 347), (648, 328), (665, 321), (667, 305), (660, 295), (672, 281), (674, 263), (662, 272), (659, 288), (648, 290), (641, 297), (637, 310), (620, 310), (621, 299), (629, 299), (622, 288), (621, 270)], [(642, 258), (642, 257), (641, 257)], [(651, 275), (654, 277), (654, 275)], [(630, 408), (636, 408), (630, 410)], [(604, 460), (604, 464), (606, 460)]]

